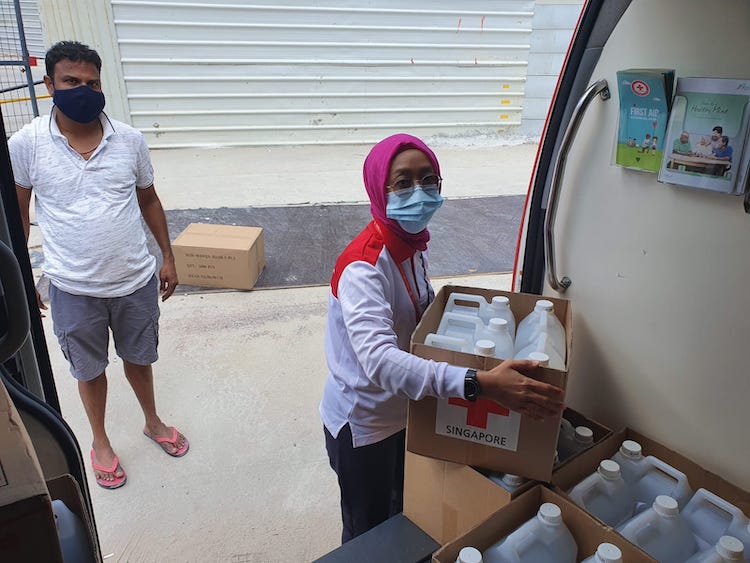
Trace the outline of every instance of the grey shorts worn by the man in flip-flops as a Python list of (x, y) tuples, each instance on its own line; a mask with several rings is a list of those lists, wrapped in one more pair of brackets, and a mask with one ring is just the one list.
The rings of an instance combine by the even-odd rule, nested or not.
[(72, 295), (50, 284), (55, 336), (70, 373), (80, 381), (100, 375), (109, 363), (109, 330), (123, 360), (149, 365), (158, 359), (159, 286), (156, 276), (124, 297)]

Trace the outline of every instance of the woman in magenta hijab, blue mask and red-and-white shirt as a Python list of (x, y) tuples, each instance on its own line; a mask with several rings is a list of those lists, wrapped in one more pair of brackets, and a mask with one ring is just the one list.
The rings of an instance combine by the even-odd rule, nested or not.
[(440, 165), (406, 134), (376, 144), (364, 163), (372, 221), (336, 261), (328, 299), (328, 378), (320, 403), (338, 475), (342, 543), (402, 511), (409, 399), (483, 397), (535, 418), (557, 415), (561, 389), (508, 360), (490, 371), (410, 354), (409, 339), (434, 297), (426, 229), (442, 205)]

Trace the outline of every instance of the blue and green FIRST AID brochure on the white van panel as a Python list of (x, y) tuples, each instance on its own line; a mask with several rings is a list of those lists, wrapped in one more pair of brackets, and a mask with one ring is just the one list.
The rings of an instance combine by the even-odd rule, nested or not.
[(647, 172), (659, 171), (673, 88), (673, 69), (617, 72), (620, 121), (616, 164)]

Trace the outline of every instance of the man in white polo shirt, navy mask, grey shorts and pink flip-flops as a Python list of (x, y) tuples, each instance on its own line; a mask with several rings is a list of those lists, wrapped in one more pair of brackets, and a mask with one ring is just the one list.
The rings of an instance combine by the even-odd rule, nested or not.
[[(127, 477), (104, 424), (110, 330), (146, 418), (143, 433), (174, 457), (189, 448), (156, 412), (151, 370), (158, 294), (172, 295), (177, 273), (146, 142), (102, 112), (99, 55), (62, 41), (45, 64), (51, 115), (34, 119), (8, 146), (27, 240), (32, 190), (36, 198), (53, 326), (91, 424), (96, 482), (114, 489)], [(161, 249), (158, 279), (141, 217)]]

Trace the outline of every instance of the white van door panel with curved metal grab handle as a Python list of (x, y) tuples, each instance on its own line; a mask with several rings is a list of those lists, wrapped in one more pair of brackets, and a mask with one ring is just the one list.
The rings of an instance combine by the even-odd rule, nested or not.
[(741, 197), (659, 183), (615, 165), (614, 150), (618, 70), (750, 78), (749, 47), (744, 0), (588, 2), (541, 140), (514, 276), (521, 291), (572, 302), (571, 406), (745, 489), (750, 216)]

